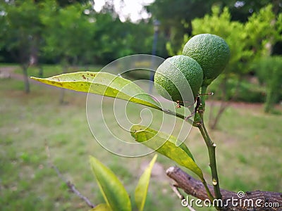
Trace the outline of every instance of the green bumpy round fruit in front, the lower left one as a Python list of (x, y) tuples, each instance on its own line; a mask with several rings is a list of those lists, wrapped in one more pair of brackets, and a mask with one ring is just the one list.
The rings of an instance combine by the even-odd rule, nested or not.
[(154, 75), (154, 87), (164, 98), (183, 105), (188, 101), (194, 103), (202, 80), (203, 71), (197, 61), (178, 55), (167, 58), (159, 65)]

